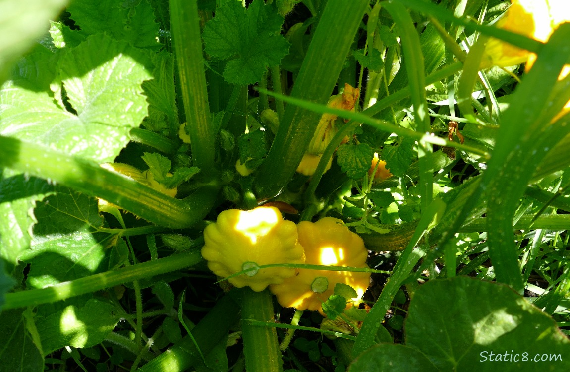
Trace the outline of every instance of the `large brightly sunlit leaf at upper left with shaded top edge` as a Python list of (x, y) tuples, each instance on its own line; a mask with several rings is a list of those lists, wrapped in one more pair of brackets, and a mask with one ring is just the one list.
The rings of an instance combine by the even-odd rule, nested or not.
[[(59, 76), (54, 62), (42, 50), (22, 60), (0, 91), (0, 134), (112, 161), (146, 116), (141, 84), (151, 75), (144, 56), (127, 43), (94, 35), (63, 50)], [(59, 96), (58, 79), (71, 107)]]

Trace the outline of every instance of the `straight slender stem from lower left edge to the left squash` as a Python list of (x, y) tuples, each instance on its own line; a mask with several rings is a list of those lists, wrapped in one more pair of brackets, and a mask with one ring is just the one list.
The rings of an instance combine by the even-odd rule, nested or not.
[(172, 256), (159, 258), (127, 266), (125, 268), (109, 270), (104, 273), (91, 275), (88, 277), (62, 282), (47, 288), (22, 290), (6, 294), (6, 302), (2, 310), (23, 308), (25, 306), (35, 306), (47, 304), (67, 298), (79, 296), (80, 294), (92, 293), (97, 290), (110, 288), (133, 280), (140, 280), (153, 277), (194, 266), (202, 261), (199, 250), (192, 252), (173, 254)]

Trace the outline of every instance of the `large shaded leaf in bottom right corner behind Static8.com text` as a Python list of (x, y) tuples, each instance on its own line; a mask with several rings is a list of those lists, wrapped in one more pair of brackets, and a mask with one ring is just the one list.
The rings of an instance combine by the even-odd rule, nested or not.
[[(426, 371), (570, 369), (570, 341), (556, 322), (506, 285), (469, 277), (431, 280), (414, 294), (405, 331), (406, 346), (373, 347), (349, 371), (418, 363)], [(377, 369), (367, 369), (372, 365)]]

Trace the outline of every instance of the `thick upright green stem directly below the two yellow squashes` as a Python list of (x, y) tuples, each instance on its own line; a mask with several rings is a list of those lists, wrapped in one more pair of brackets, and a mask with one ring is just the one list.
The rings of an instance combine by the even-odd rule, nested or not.
[(283, 370), (277, 331), (273, 327), (251, 325), (249, 321), (273, 322), (271, 293), (243, 290), (242, 335), (247, 372), (278, 372)]

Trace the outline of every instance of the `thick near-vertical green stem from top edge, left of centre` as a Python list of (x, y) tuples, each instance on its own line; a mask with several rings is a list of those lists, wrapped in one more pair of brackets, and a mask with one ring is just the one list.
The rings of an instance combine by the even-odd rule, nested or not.
[(202, 56), (200, 18), (196, 0), (170, 0), (170, 31), (178, 64), (186, 125), (192, 141), (194, 165), (214, 165), (214, 132)]

